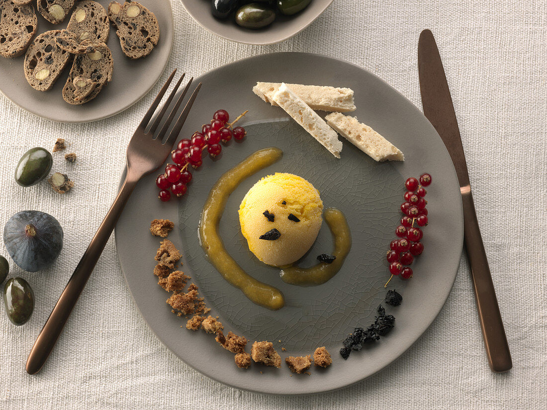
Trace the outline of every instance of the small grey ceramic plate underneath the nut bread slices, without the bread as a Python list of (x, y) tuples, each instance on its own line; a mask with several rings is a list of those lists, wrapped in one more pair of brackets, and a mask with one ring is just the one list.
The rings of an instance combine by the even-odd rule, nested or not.
[[(104, 8), (109, 0), (95, 0)], [(164, 72), (173, 44), (173, 13), (169, 0), (139, 0), (158, 18), (160, 41), (154, 50), (140, 60), (131, 60), (121, 51), (116, 31), (110, 25), (107, 45), (114, 58), (114, 75), (101, 93), (89, 103), (71, 106), (61, 96), (70, 66), (49, 91), (37, 91), (28, 85), (23, 72), (25, 55), (8, 59), (0, 57), (0, 91), (13, 103), (42, 118), (59, 122), (89, 122), (118, 114), (144, 97)], [(36, 1), (33, 1), (36, 9)], [(38, 12), (37, 12), (38, 13)], [(51, 24), (38, 13), (37, 34), (66, 28), (68, 19), (59, 25)]]

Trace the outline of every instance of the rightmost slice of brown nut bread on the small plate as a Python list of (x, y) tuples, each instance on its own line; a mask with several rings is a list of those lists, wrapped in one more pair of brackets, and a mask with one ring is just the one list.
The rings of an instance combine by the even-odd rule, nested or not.
[(150, 54), (160, 39), (158, 19), (142, 4), (127, 0), (124, 4), (112, 2), (108, 18), (116, 27), (124, 54), (136, 60)]

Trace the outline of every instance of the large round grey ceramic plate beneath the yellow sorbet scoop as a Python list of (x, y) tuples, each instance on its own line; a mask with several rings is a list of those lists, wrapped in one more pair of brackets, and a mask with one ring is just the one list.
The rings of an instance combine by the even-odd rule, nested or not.
[[(286, 67), (292, 69), (286, 71)], [(260, 73), (260, 74), (257, 74)], [(262, 102), (251, 91), (257, 80), (287, 81), (351, 87), (358, 107), (354, 115), (374, 127), (403, 150), (405, 162), (377, 163), (344, 140), (336, 160), (278, 108)], [(181, 200), (160, 202), (156, 174), (137, 186), (116, 227), (116, 244), (127, 285), (150, 328), (179, 358), (203, 374), (240, 389), (277, 394), (305, 394), (333, 390), (358, 382), (381, 370), (414, 343), (432, 323), (449, 295), (456, 277), (463, 242), (463, 216), (456, 173), (443, 142), (427, 119), (406, 98), (373, 74), (333, 58), (277, 53), (247, 58), (202, 75), (203, 87), (182, 136), (189, 137), (218, 108), (232, 116), (249, 109), (248, 137), (223, 147), (222, 157), (205, 159)], [(323, 113), (324, 114), (324, 113)], [(287, 304), (272, 312), (249, 302), (220, 277), (207, 262), (197, 239), (201, 208), (213, 183), (227, 169), (254, 151), (276, 146), (281, 161), (245, 180), (229, 198), (220, 232), (229, 252), (254, 277), (281, 289)], [(403, 294), (403, 305), (388, 308), (396, 326), (374, 347), (353, 352), (348, 360), (338, 353), (341, 341), (354, 326), (374, 321), (388, 279), (385, 262), (389, 242), (401, 217), (404, 181), (423, 172), (433, 175), (428, 189), (430, 224), (424, 228), (425, 251), (412, 265), (414, 278), (394, 278), (389, 288)], [(283, 283), (278, 270), (249, 253), (238, 229), (237, 209), (246, 191), (259, 178), (292, 172), (311, 181), (325, 207), (340, 208), (350, 221), (353, 246), (342, 270), (329, 282), (310, 288)], [(159, 238), (149, 232), (154, 218), (176, 221), (169, 238), (182, 249), (183, 270), (205, 296), (226, 331), (255, 340), (274, 342), (282, 357), (313, 353), (325, 345), (333, 356), (327, 369), (311, 369), (311, 376), (253, 364), (239, 370), (234, 355), (211, 335), (184, 329), (185, 320), (171, 313), (167, 293), (152, 274)], [(323, 224), (312, 250), (301, 262), (311, 265), (329, 253), (330, 233)], [(181, 329), (181, 326), (183, 328)], [(281, 341), (281, 342), (279, 342)], [(287, 349), (282, 352), (281, 348)], [(249, 343), (250, 348), (250, 343)], [(262, 372), (262, 373), (260, 373)]]

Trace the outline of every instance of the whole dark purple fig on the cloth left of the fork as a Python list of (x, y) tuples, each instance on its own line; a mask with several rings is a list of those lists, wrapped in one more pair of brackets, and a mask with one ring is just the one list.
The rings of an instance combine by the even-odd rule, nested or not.
[(22, 270), (37, 272), (50, 267), (61, 253), (63, 230), (50, 214), (24, 210), (6, 222), (4, 245)]

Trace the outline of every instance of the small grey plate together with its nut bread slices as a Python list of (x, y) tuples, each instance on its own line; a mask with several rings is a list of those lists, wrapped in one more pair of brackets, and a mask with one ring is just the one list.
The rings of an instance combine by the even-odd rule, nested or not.
[(0, 91), (58, 122), (118, 114), (161, 77), (173, 43), (169, 0), (2, 0)]

